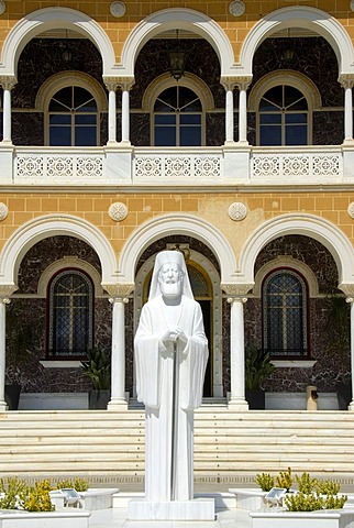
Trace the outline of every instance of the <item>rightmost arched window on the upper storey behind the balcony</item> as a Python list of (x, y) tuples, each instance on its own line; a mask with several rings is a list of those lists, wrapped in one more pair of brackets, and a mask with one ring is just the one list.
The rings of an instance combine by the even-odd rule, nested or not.
[(305, 95), (286, 84), (274, 86), (261, 99), (259, 145), (307, 145), (308, 103)]

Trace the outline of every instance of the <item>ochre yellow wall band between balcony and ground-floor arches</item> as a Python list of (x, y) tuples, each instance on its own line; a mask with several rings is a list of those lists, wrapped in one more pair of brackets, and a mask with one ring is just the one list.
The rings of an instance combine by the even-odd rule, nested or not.
[[(49, 213), (67, 213), (84, 218), (99, 228), (112, 244), (117, 255), (132, 232), (143, 222), (170, 212), (197, 216), (224, 234), (236, 257), (246, 239), (264, 221), (289, 212), (317, 215), (338, 226), (354, 242), (354, 220), (347, 213), (354, 200), (350, 193), (246, 193), (246, 194), (2, 194), (0, 201), (9, 208), (9, 216), (0, 222), (0, 251), (11, 234), (26, 221)], [(128, 206), (129, 215), (122, 222), (111, 220), (108, 209), (114, 201)], [(241, 201), (248, 208), (245, 220), (229, 218), (229, 206)]]

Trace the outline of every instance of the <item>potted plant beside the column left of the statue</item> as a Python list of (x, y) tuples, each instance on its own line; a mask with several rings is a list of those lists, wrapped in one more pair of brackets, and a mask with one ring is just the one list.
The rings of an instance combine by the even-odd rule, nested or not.
[(101, 349), (87, 352), (87, 360), (81, 361), (84, 374), (91, 380), (92, 389), (89, 393), (90, 409), (106, 409), (110, 398), (111, 360)]

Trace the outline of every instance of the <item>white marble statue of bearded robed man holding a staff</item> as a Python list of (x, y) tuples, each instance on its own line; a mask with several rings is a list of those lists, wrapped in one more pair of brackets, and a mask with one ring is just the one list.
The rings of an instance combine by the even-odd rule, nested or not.
[(135, 336), (137, 399), (145, 404), (145, 501), (193, 498), (193, 409), (208, 341), (184, 255), (157, 254)]

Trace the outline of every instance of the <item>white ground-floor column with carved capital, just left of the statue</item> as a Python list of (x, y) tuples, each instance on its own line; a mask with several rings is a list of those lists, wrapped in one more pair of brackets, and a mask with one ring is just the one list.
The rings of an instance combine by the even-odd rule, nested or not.
[(125, 304), (134, 285), (103, 286), (111, 295), (112, 304), (112, 355), (111, 355), (111, 399), (109, 410), (126, 407), (125, 399)]

